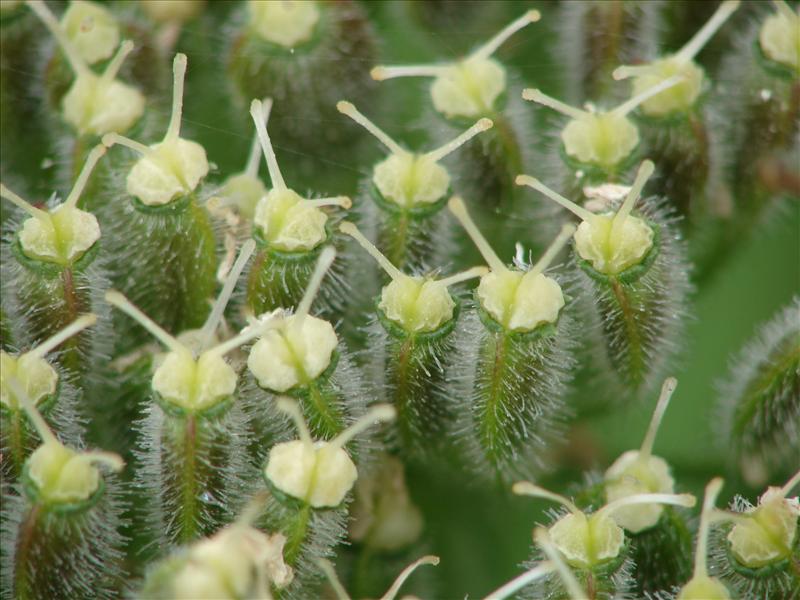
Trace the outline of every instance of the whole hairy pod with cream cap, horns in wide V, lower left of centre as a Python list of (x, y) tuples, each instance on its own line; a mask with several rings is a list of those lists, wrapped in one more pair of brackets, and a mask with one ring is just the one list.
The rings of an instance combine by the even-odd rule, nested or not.
[(154, 403), (137, 424), (137, 481), (149, 490), (148, 525), (162, 545), (208, 535), (230, 516), (248, 474), (248, 422), (235, 402), (237, 374), (223, 356), (264, 331), (257, 325), (218, 343), (214, 332), (244, 264), (250, 242), (237, 260), (209, 319), (196, 336), (181, 342), (119, 292), (106, 299), (127, 313), (169, 352), (152, 378)]

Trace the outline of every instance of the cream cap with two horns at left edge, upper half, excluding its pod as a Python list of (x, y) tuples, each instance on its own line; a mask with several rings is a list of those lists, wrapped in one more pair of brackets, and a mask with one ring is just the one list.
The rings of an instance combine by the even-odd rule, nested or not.
[(95, 216), (77, 205), (92, 170), (105, 153), (104, 146), (92, 149), (67, 199), (49, 211), (36, 208), (0, 184), (0, 196), (30, 215), (18, 233), (20, 247), (28, 258), (68, 267), (100, 239)]

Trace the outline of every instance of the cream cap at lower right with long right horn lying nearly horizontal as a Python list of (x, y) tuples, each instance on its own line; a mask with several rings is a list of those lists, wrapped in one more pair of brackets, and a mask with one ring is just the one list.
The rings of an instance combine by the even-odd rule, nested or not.
[(625, 544), (625, 532), (614, 521), (613, 515), (616, 511), (637, 504), (694, 506), (695, 503), (694, 496), (689, 494), (635, 494), (609, 502), (587, 515), (564, 496), (548, 492), (527, 481), (515, 483), (512, 491), (515, 494), (552, 500), (569, 510), (567, 515), (548, 528), (548, 535), (567, 564), (586, 570), (592, 570), (619, 557)]

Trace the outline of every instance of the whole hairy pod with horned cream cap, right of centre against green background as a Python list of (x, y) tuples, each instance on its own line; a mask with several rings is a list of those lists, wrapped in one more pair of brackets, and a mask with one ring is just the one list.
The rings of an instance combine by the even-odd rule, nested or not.
[[(691, 291), (685, 243), (676, 218), (660, 199), (640, 200), (653, 163), (615, 210), (593, 213), (521, 175), (583, 223), (575, 234), (575, 259), (583, 288), (586, 348), (610, 399), (641, 397), (663, 380), (680, 347)], [(638, 208), (634, 210), (638, 202)], [(636, 216), (638, 215), (638, 216)]]

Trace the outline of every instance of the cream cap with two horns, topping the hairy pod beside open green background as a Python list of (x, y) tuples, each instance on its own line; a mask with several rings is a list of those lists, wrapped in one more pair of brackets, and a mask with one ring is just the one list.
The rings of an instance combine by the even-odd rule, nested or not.
[(527, 185), (540, 191), (580, 218), (583, 222), (574, 236), (578, 255), (591, 263), (597, 271), (606, 275), (617, 275), (640, 264), (653, 247), (653, 229), (643, 219), (630, 214), (653, 169), (651, 161), (644, 161), (619, 210), (601, 215), (567, 200), (528, 175), (519, 175), (517, 185)]

